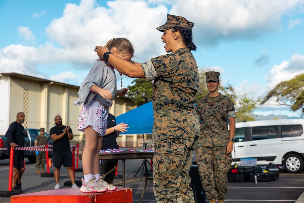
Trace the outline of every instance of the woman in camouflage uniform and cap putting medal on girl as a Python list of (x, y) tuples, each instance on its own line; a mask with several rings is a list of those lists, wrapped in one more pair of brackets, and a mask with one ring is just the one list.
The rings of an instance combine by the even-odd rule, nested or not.
[[(153, 189), (157, 202), (194, 203), (189, 186), (189, 170), (199, 136), (199, 121), (194, 110), (199, 89), (199, 74), (191, 50), (194, 23), (169, 15), (157, 28), (167, 53), (142, 64), (123, 61), (96, 46), (99, 57), (108, 60), (120, 73), (131, 78), (154, 80), (153, 84)], [(107, 54), (108, 53), (108, 54)], [(104, 55), (105, 54), (105, 55)]]

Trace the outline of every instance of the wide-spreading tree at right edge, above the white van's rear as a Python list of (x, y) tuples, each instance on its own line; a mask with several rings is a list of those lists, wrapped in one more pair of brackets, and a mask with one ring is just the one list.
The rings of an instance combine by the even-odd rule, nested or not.
[(292, 111), (301, 110), (304, 115), (304, 73), (276, 85), (261, 102), (274, 100), (278, 105), (286, 105)]

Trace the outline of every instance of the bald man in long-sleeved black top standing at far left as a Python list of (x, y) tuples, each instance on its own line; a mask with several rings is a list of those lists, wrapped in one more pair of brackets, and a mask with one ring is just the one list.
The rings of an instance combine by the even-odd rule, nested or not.
[[(5, 136), (7, 136), (7, 148), (8, 154), (10, 155), (11, 146), (13, 149), (16, 147), (24, 147), (24, 128), (21, 125), (24, 122), (24, 113), (19, 112), (16, 116), (16, 121), (12, 122), (9, 125), (9, 129), (7, 130)], [(24, 150), (14, 150), (14, 171), (12, 178), (12, 189), (17, 189), (22, 191), (21, 189), (21, 176), (25, 170), (24, 166)], [(16, 186), (15, 186), (16, 184)]]

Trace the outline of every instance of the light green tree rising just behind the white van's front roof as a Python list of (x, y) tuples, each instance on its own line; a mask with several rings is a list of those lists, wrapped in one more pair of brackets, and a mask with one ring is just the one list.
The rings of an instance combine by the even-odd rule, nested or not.
[(258, 100), (253, 100), (247, 97), (247, 94), (240, 96), (238, 101), (239, 106), (236, 108), (236, 122), (243, 121), (255, 121), (256, 115), (253, 114), (254, 110), (257, 109), (259, 103)]

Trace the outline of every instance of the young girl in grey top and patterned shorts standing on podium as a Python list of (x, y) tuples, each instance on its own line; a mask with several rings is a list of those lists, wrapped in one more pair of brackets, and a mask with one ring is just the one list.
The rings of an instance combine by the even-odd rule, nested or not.
[(124, 96), (128, 89), (116, 91), (116, 75), (114, 67), (107, 61), (110, 54), (130, 61), (134, 54), (133, 45), (125, 38), (114, 38), (106, 44), (109, 52), (103, 59), (99, 58), (82, 82), (78, 91), (79, 98), (74, 105), (81, 107), (78, 130), (85, 133), (85, 148), (82, 153), (81, 192), (105, 192), (115, 190), (101, 179), (99, 174), (99, 151), (102, 147), (102, 136), (107, 130), (108, 109), (113, 96)]

